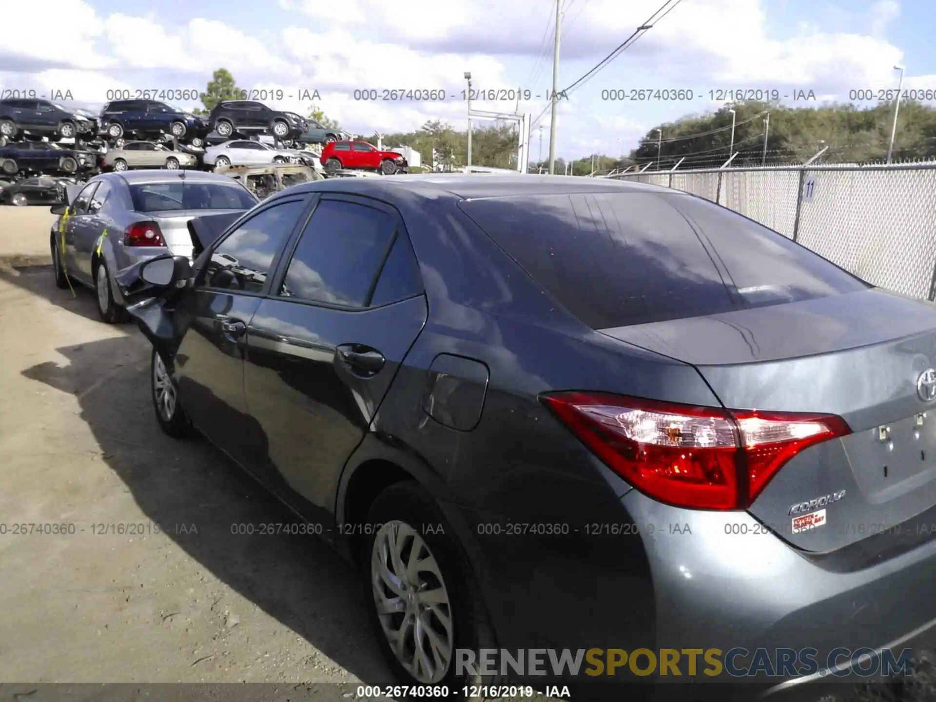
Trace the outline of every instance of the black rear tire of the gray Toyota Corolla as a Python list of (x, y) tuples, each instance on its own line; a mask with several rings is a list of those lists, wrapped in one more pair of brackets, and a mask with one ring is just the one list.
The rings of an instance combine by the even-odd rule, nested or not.
[[(455, 651), (496, 649), (497, 643), (461, 543), (429, 493), (412, 481), (392, 485), (374, 499), (365, 523), (374, 525), (373, 534), (365, 531), (358, 544), (366, 607), (379, 647), (397, 679), (406, 685), (447, 685), (454, 697), (461, 697), (465, 686), (497, 684), (498, 680), (482, 679), (479, 675), (456, 675)], [(403, 572), (397, 573), (399, 565), (393, 564), (384, 549), (400, 537), (405, 539), (403, 553), (411, 554), (416, 548), (417, 555), (425, 556), (420, 563), (431, 565), (429, 561), (433, 560), (437, 572), (425, 569), (411, 578), (409, 569), (403, 567)], [(407, 560), (408, 563), (411, 562)], [(388, 573), (390, 578), (381, 578), (381, 572)], [(394, 579), (402, 587), (393, 585)], [(436, 596), (420, 602), (419, 592), (435, 592)], [(378, 600), (403, 609), (378, 614)], [(412, 631), (412, 622), (417, 620), (423, 630), (431, 628), (449, 644), (450, 660), (444, 674), (436, 670), (434, 676), (417, 675), (416, 636), (404, 636), (408, 640), (402, 652), (395, 651), (391, 643), (393, 632), (399, 631), (405, 622), (410, 622)], [(435, 662), (437, 659), (425, 648), (431, 646), (430, 637), (422, 638), (423, 651)]]

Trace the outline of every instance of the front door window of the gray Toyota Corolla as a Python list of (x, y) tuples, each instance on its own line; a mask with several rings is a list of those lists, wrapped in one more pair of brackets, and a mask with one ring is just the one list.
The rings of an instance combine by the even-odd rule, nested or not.
[(214, 249), (201, 284), (261, 292), (273, 260), (296, 227), (305, 204), (301, 199), (277, 203), (243, 222)]

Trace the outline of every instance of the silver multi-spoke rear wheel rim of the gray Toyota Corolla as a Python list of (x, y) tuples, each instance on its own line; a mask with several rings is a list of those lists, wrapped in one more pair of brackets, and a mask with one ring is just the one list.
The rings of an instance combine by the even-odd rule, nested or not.
[(377, 532), (371, 583), (380, 626), (403, 668), (419, 682), (445, 678), (455, 650), (448, 591), (435, 556), (409, 524), (394, 519)]

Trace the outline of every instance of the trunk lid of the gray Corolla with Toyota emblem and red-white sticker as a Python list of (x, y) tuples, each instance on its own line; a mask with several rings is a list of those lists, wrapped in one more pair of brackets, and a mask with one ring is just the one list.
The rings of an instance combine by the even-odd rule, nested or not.
[(851, 435), (803, 450), (750, 509), (798, 548), (899, 534), (936, 505), (929, 302), (869, 289), (602, 331), (691, 363), (726, 407), (845, 419)]

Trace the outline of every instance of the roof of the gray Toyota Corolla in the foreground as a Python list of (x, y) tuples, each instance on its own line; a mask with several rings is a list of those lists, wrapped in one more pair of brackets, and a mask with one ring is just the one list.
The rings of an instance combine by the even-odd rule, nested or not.
[(649, 183), (631, 183), (581, 176), (412, 173), (380, 178), (340, 178), (302, 183), (290, 188), (299, 191), (334, 190), (380, 197), (402, 189), (413, 195), (438, 197), (448, 193), (462, 199), (487, 197), (530, 197), (541, 195), (576, 195), (584, 193), (672, 193), (669, 188)]

